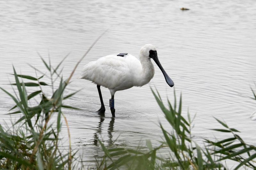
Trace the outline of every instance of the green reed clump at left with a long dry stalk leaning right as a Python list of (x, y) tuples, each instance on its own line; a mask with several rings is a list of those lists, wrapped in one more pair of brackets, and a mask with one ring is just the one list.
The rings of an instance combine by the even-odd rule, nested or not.
[[(60, 67), (68, 55), (56, 67), (53, 67), (50, 58), (47, 63), (39, 54), (49, 74), (44, 74), (31, 66), (36, 71), (36, 76), (32, 77), (17, 74), (13, 67), (15, 83), (11, 85), (17, 87), (16, 90), (13, 89), (15, 94), (7, 92), (2, 87), (0, 89), (9, 95), (16, 104), (9, 110), (9, 115), (21, 114), (21, 117), (16, 122), (12, 122), (10, 127), (4, 128), (0, 124), (0, 169), (76, 169), (76, 163), (73, 162), (76, 160), (74, 156), (77, 151), (71, 149), (68, 122), (62, 112), (62, 108), (78, 109), (63, 104), (64, 100), (75, 95), (76, 92), (64, 96), (64, 91), (78, 64), (100, 37), (81, 57), (66, 80), (63, 80), (61, 76), (63, 69)], [(37, 74), (42, 75), (38, 77)], [(50, 83), (41, 81), (45, 77), (50, 79)], [(57, 81), (59, 85), (54, 89)], [(34, 87), (38, 88), (35, 90)], [(44, 87), (50, 87), (50, 92), (49, 88), (44, 90)], [(28, 94), (28, 88), (29, 92), (34, 91)], [(36, 100), (38, 98), (39, 101)], [(31, 99), (36, 102), (32, 102)], [(50, 123), (54, 115), (56, 123)], [(61, 118), (64, 118), (68, 130), (68, 151), (60, 149)]]

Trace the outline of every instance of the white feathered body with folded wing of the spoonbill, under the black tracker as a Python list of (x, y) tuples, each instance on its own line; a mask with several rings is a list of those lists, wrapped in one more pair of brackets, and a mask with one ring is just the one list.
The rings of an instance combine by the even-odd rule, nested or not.
[(141, 67), (140, 61), (132, 56), (107, 55), (86, 64), (80, 78), (92, 81), (109, 89), (132, 87), (133, 74)]

